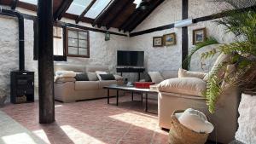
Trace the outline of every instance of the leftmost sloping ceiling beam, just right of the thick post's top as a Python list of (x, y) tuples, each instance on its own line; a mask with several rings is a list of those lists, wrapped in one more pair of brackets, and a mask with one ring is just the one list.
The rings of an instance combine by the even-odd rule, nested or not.
[(71, 3), (73, 3), (73, 0), (63, 0), (61, 6), (55, 11), (54, 20), (61, 20)]

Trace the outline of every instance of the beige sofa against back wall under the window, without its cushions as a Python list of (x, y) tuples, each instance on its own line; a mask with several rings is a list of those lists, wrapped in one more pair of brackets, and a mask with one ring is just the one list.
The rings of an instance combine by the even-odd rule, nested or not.
[[(55, 64), (56, 71), (74, 71), (74, 72), (108, 72), (108, 66), (81, 66), (70, 64)], [(106, 81), (74, 81), (74, 82), (55, 82), (55, 100), (62, 102), (74, 102), (90, 99), (103, 98), (107, 96), (104, 86), (110, 84), (122, 84), (119, 80)], [(110, 90), (110, 96), (115, 95), (114, 90)]]

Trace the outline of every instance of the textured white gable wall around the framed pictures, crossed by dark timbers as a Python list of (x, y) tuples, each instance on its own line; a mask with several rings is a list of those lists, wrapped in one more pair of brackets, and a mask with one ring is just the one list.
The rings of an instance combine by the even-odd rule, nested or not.
[[(230, 9), (227, 3), (216, 3), (207, 0), (193, 0), (189, 1), (189, 18), (198, 18), (211, 14), (217, 14), (224, 9)], [(182, 20), (182, 1), (168, 0), (161, 3), (160, 6), (153, 11), (133, 32), (143, 31), (148, 28), (156, 26), (164, 26), (172, 24), (177, 20)], [(200, 22), (188, 27), (189, 32), (189, 51), (193, 48), (192, 37), (193, 30), (207, 27), (207, 36), (215, 37), (219, 43), (228, 43), (234, 40), (234, 35), (224, 32), (224, 26), (218, 26), (214, 20)], [(163, 36), (166, 33), (176, 32), (177, 44), (170, 47), (154, 48), (152, 46), (152, 39), (156, 36)], [(145, 35), (131, 37), (130, 42), (133, 49), (145, 51), (146, 67), (148, 71), (166, 71), (177, 70), (182, 65), (182, 39), (181, 28), (172, 28), (170, 30), (148, 33)], [(215, 58), (212, 60), (205, 60), (207, 66), (201, 69), (200, 54), (214, 47), (202, 49), (192, 58), (191, 70), (208, 72)]]

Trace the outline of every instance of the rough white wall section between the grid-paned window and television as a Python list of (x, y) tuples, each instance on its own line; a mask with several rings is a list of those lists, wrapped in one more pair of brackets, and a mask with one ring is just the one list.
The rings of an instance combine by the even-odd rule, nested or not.
[(111, 72), (115, 72), (117, 50), (128, 49), (128, 40), (129, 37), (110, 35), (110, 40), (105, 41), (104, 33), (90, 32), (90, 58), (67, 57), (67, 63), (85, 66), (108, 66)]

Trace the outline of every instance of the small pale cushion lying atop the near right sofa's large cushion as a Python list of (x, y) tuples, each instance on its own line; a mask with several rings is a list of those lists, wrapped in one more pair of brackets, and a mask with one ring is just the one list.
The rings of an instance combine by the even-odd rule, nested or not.
[(178, 70), (178, 78), (205, 78), (207, 73), (204, 72), (191, 72), (184, 70), (183, 68), (179, 68)]

